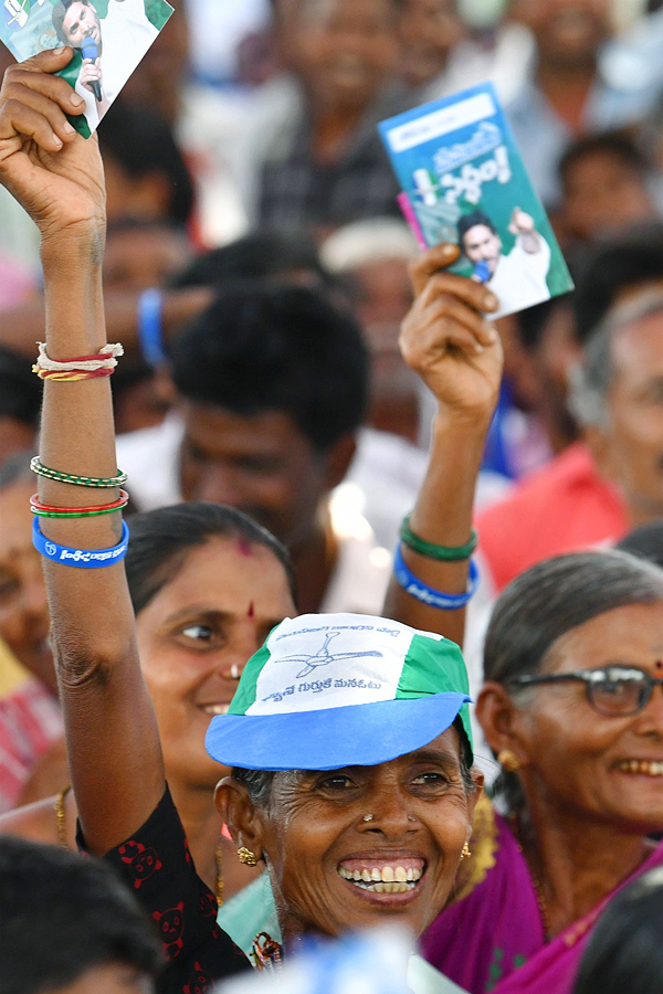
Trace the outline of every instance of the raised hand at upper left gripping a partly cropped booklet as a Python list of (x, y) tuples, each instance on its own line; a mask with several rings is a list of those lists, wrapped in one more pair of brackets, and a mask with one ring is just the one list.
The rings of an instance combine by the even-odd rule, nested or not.
[(71, 47), (41, 52), (10, 66), (0, 89), (0, 182), (38, 224), (42, 240), (82, 235), (103, 247), (106, 198), (96, 136), (78, 135), (66, 115), (82, 97), (53, 75)]

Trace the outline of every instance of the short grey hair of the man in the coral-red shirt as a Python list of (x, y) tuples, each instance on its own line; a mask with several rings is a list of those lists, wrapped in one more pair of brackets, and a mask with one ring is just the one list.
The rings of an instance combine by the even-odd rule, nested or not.
[(585, 347), (585, 359), (570, 373), (568, 404), (581, 427), (606, 427), (608, 391), (614, 379), (612, 342), (615, 335), (654, 315), (663, 315), (663, 293), (643, 290), (613, 307), (594, 328)]

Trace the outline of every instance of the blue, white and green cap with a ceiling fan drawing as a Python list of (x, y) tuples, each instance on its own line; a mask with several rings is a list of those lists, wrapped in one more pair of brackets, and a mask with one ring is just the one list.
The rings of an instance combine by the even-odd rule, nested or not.
[(248, 770), (373, 766), (460, 716), (472, 750), (469, 689), (460, 648), (441, 635), (361, 614), (286, 617), (249, 659), (206, 745)]

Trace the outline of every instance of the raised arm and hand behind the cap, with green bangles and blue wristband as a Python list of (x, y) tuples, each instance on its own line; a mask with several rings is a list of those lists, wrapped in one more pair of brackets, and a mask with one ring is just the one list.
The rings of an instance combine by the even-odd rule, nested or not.
[[(445, 273), (454, 245), (438, 245), (411, 266), (414, 304), (401, 331), (401, 351), (438, 401), (425, 478), (410, 517), (411, 532), (444, 549), (466, 546), (486, 434), (502, 378), (502, 345), (481, 311), (495, 297), (478, 283)], [(459, 596), (467, 589), (469, 559), (438, 560), (400, 544), (407, 570), (424, 586)], [(402, 577), (402, 572), (401, 572)], [(423, 596), (428, 596), (424, 591)], [(433, 599), (433, 595), (430, 598)], [(453, 603), (453, 601), (451, 602)], [(434, 607), (392, 578), (385, 614), (462, 644), (464, 607)]]

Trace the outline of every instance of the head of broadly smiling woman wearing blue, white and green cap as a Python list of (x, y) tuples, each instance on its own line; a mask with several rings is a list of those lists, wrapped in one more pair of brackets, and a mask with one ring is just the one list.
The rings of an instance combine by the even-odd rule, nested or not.
[[(385, 618), (286, 618), (249, 660), (207, 745), (234, 768), (217, 803), (267, 865), (286, 945), (386, 913), (418, 935), (443, 906), (481, 780), (469, 700), (454, 643)], [(273, 938), (252, 955), (278, 956)]]

